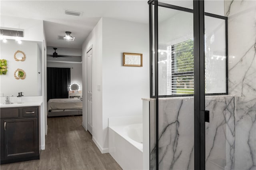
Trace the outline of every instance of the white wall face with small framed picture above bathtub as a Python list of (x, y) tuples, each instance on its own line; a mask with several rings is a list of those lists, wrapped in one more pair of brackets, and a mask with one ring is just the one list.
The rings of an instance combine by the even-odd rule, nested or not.
[[(142, 97), (149, 97), (148, 24), (103, 18), (102, 124), (108, 148), (108, 118), (142, 115)], [(122, 53), (142, 53), (143, 67), (122, 66)]]

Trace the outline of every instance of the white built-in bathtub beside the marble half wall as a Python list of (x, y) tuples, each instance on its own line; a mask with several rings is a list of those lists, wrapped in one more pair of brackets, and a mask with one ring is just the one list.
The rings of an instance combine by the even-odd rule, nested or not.
[(109, 153), (124, 170), (143, 169), (142, 123), (108, 127)]

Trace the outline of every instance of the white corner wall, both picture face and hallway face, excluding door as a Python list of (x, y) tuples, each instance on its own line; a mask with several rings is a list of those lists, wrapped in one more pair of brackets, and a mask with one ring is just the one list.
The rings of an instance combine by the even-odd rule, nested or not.
[[(149, 97), (148, 24), (102, 18), (83, 43), (83, 84), (86, 50), (92, 46), (92, 138), (108, 152), (108, 118), (142, 115), (142, 97)], [(122, 53), (142, 53), (143, 67), (122, 66)], [(100, 86), (100, 91), (97, 86)], [(86, 90), (83, 91), (85, 99)], [(86, 128), (86, 100), (83, 101)]]

